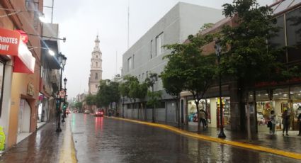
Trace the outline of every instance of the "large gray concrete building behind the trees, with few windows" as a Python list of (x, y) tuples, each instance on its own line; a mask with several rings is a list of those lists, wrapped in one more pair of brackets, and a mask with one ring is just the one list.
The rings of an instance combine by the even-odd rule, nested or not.
[[(142, 82), (149, 73), (161, 74), (167, 64), (167, 60), (162, 60), (162, 57), (170, 52), (161, 47), (162, 45), (183, 43), (188, 35), (198, 33), (205, 23), (215, 23), (223, 17), (220, 9), (183, 2), (176, 4), (123, 54), (122, 77), (130, 74)], [(154, 84), (154, 91), (163, 93), (161, 106), (155, 109), (155, 120), (176, 123), (176, 105), (171, 96), (165, 93), (160, 78)], [(145, 109), (143, 114), (142, 109), (136, 108), (132, 111), (130, 100), (125, 103), (124, 111), (120, 112), (126, 118), (152, 120), (151, 108)]]

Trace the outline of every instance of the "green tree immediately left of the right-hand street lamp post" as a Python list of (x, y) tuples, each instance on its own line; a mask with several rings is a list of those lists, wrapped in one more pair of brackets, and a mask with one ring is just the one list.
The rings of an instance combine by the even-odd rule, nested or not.
[[(169, 79), (169, 84), (173, 86), (181, 86), (177, 80), (172, 80), (172, 78), (179, 79), (183, 82), (181, 88), (191, 92), (198, 112), (198, 130), (200, 130), (200, 109), (198, 104), (215, 80), (217, 72), (215, 55), (203, 55), (201, 47), (212, 42), (213, 37), (214, 35), (189, 35), (188, 43), (165, 46), (171, 50), (171, 54), (167, 55), (171, 63), (166, 66), (164, 72), (166, 73), (165, 77), (170, 77), (171, 79), (165, 77), (164, 79)], [(169, 88), (168, 86), (164, 88), (170, 89), (172, 91), (170, 93), (178, 96), (178, 90), (175, 88)]]

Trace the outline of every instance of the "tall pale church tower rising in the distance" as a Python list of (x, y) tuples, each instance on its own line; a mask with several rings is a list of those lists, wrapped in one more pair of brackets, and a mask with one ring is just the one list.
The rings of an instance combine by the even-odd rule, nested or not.
[(89, 94), (96, 94), (98, 90), (99, 81), (102, 79), (103, 69), (101, 60), (101, 49), (99, 47), (98, 35), (96, 36), (95, 46), (91, 57), (91, 69), (89, 77)]

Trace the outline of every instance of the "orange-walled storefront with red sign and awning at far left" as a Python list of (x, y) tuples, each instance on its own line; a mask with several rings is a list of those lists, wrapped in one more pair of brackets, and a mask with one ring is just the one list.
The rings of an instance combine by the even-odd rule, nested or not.
[[(0, 28), (0, 98), (4, 110), (0, 120), (7, 137), (6, 147), (15, 145), (22, 133), (35, 130), (35, 57), (28, 50), (25, 36), (17, 30)], [(7, 86), (8, 81), (12, 86)], [(2, 108), (3, 104), (6, 106)]]

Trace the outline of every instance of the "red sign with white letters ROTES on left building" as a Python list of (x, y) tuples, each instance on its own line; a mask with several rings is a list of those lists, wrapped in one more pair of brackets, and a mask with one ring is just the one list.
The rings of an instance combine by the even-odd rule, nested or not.
[(20, 33), (0, 28), (0, 55), (18, 55)]

